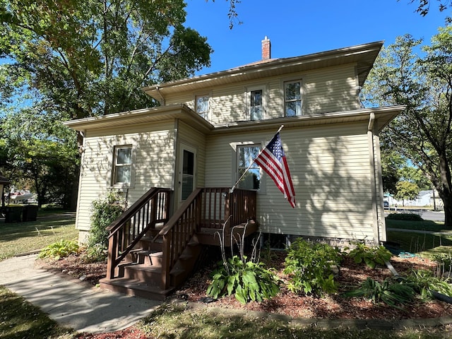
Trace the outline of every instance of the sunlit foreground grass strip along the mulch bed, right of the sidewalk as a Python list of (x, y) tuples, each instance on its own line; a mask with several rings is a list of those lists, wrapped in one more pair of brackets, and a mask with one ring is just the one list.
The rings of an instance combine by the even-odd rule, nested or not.
[[(328, 324), (327, 324), (328, 326)], [(331, 323), (331, 327), (337, 323)], [(297, 321), (269, 319), (253, 314), (230, 314), (222, 309), (191, 309), (181, 304), (165, 304), (138, 323), (138, 328), (149, 338), (450, 338), (452, 328), (403, 329), (381, 331), (376, 329), (321, 328), (303, 325)], [(353, 326), (352, 326), (353, 327)]]

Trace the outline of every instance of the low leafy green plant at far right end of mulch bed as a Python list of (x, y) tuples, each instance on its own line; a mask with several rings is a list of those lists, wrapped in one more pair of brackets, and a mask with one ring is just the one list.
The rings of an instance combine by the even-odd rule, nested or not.
[(432, 299), (432, 291), (452, 297), (452, 285), (445, 278), (438, 278), (431, 270), (412, 270), (404, 283), (410, 285), (422, 299)]

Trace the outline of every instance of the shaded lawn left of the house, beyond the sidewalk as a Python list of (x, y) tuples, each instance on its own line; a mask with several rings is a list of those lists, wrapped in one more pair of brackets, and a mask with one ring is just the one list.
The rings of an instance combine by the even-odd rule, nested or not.
[(78, 237), (75, 217), (62, 210), (39, 210), (36, 221), (0, 223), (0, 261), (59, 242)]

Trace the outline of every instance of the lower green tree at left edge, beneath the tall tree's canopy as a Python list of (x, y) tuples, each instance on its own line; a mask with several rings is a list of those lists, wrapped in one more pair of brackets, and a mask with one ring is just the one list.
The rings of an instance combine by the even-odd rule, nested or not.
[(76, 133), (50, 114), (22, 109), (1, 121), (0, 166), (19, 189), (37, 193), (40, 206), (71, 206), (71, 189), (77, 182)]

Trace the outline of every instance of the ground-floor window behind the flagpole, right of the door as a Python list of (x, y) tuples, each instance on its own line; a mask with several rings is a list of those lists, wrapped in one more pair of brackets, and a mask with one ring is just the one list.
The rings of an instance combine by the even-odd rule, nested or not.
[(239, 189), (258, 190), (261, 188), (261, 169), (254, 162), (260, 151), (260, 145), (256, 144), (237, 146), (237, 179), (242, 178), (238, 184)]

